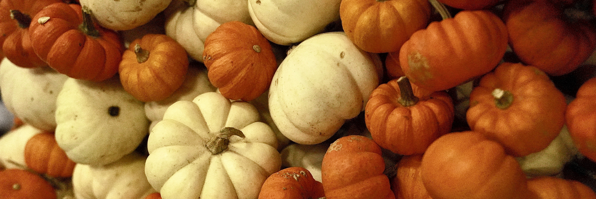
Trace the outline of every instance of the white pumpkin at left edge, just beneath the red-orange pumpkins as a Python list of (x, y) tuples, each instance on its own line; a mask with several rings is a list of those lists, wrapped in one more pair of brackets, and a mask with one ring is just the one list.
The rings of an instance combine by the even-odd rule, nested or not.
[(0, 64), (2, 101), (24, 123), (53, 131), (56, 98), (67, 77), (50, 67), (26, 69), (4, 58)]

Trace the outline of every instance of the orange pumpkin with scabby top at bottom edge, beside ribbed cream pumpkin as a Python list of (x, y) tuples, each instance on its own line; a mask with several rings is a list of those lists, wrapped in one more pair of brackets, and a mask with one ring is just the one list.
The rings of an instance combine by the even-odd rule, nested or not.
[(302, 167), (289, 167), (274, 173), (263, 183), (259, 199), (310, 199), (325, 197), (321, 182)]

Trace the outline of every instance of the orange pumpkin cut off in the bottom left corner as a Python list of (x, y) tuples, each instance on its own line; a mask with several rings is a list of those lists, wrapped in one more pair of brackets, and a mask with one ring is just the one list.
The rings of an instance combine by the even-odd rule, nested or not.
[(56, 192), (48, 181), (22, 169), (0, 171), (0, 195), (7, 199), (56, 199)]

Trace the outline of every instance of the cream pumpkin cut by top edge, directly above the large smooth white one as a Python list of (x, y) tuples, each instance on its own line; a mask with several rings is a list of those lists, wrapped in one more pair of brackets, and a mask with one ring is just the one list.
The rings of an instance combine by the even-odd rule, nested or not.
[(249, 0), (257, 29), (280, 45), (302, 42), (339, 19), (341, 0)]

